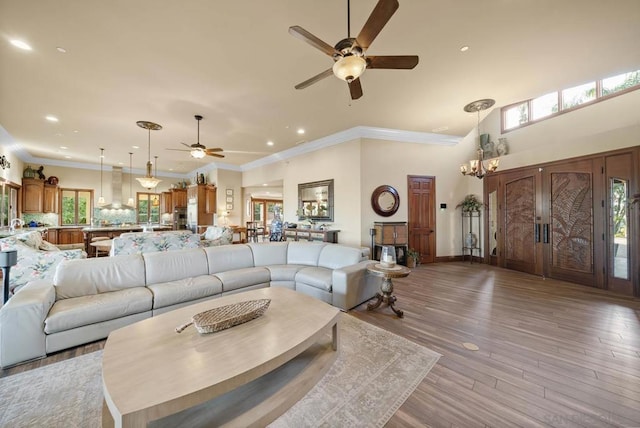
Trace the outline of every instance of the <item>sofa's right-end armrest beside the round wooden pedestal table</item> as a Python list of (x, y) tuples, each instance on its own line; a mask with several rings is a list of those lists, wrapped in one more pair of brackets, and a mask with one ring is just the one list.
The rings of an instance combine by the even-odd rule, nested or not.
[(365, 260), (333, 270), (333, 306), (348, 311), (375, 297), (380, 289), (380, 278), (367, 272), (367, 265), (371, 263), (375, 261)]

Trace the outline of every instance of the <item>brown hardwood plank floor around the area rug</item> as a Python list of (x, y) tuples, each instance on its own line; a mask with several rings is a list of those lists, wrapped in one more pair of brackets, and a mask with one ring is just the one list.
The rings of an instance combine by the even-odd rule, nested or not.
[(385, 305), (350, 313), (442, 357), (389, 427), (640, 426), (639, 299), (469, 263), (421, 265), (394, 287), (403, 319)]

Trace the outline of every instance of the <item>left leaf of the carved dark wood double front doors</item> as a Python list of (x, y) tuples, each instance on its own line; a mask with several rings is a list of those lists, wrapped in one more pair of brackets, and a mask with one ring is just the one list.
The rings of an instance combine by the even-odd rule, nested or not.
[[(503, 250), (499, 265), (508, 269), (542, 275), (540, 245), (541, 175), (537, 168), (506, 174), (504, 177), (504, 210), (499, 229), (503, 231)], [(504, 225), (501, 226), (500, 223)]]

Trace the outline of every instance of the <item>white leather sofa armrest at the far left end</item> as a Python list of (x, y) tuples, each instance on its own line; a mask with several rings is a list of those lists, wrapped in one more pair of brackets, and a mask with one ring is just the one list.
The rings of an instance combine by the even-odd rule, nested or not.
[(51, 280), (32, 281), (0, 309), (0, 367), (45, 357), (44, 320), (56, 300)]

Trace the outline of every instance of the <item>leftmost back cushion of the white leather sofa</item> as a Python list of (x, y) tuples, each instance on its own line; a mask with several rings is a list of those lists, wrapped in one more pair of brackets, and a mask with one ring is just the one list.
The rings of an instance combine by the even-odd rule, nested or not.
[(140, 255), (64, 260), (56, 269), (56, 300), (144, 287), (144, 263)]

